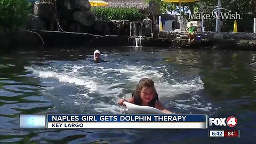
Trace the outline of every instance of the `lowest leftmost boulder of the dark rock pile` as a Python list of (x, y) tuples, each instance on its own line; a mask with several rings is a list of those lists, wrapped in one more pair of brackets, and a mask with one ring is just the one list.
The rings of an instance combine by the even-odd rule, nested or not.
[(27, 29), (45, 30), (44, 21), (36, 15), (29, 14)]

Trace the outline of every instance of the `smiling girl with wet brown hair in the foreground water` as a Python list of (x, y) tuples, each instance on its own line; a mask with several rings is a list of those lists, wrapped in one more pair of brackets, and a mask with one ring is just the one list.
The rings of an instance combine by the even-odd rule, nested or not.
[(136, 86), (135, 91), (133, 91), (132, 97), (128, 100), (121, 99), (118, 101), (118, 104), (124, 106), (124, 101), (139, 106), (154, 107), (163, 111), (165, 114), (172, 114), (172, 112), (165, 109), (162, 103), (159, 101), (154, 82), (150, 78), (142, 78), (139, 84)]

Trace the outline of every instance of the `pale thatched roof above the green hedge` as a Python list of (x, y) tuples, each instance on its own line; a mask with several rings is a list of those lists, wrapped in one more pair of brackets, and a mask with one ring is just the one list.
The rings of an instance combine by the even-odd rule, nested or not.
[(146, 2), (145, 0), (134, 0), (134, 1), (112, 1), (112, 0), (104, 0), (104, 2), (108, 3), (110, 8), (131, 8), (131, 9), (139, 9), (146, 13), (157, 13), (157, 3), (154, 1)]

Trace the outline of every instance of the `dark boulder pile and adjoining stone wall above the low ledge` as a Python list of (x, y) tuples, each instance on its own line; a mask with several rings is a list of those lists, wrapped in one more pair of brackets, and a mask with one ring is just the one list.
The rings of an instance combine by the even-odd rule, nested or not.
[[(91, 5), (87, 0), (57, 0), (56, 7), (54, 1), (36, 2), (33, 14), (29, 15), (27, 29), (151, 37), (151, 20), (95, 21), (95, 15), (89, 11), (90, 9)], [(56, 10), (58, 22), (55, 17)], [(131, 26), (133, 24), (134, 26)]]

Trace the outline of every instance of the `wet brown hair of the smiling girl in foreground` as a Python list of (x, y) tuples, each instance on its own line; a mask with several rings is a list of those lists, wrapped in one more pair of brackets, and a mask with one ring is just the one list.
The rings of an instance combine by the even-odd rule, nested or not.
[(136, 86), (135, 94), (140, 95), (140, 92), (143, 87), (152, 87), (154, 90), (154, 95), (157, 95), (154, 82), (151, 78), (142, 78), (140, 79), (139, 84)]

